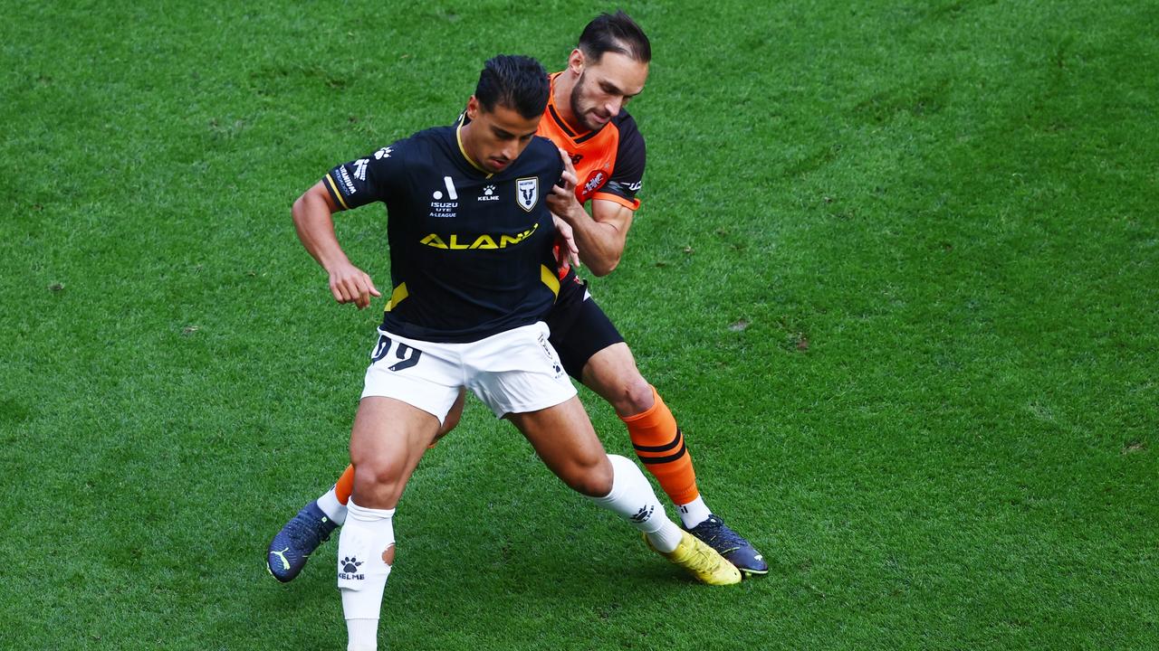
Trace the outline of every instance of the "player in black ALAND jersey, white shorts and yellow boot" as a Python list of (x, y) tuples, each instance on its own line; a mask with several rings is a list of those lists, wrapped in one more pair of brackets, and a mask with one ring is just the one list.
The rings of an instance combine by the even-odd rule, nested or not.
[(533, 59), (495, 57), (458, 125), (337, 166), (294, 203), (298, 236), (335, 298), (359, 306), (380, 292), (342, 251), (331, 215), (374, 202), (388, 214), (392, 291), (350, 436), (353, 491), (338, 542), (348, 649), (377, 649), (395, 507), (466, 388), (656, 551), (705, 583), (741, 580), (668, 519), (635, 463), (604, 453), (547, 341), (541, 320), (559, 276), (545, 192), (563, 170), (559, 151), (534, 136), (548, 92)]

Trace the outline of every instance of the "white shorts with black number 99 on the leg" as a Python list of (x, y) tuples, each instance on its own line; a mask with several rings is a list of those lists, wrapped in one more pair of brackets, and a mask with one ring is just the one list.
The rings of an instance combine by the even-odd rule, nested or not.
[(385, 396), (443, 423), (467, 387), (497, 418), (555, 407), (576, 395), (544, 322), (466, 344), (400, 337), (379, 328), (363, 397)]

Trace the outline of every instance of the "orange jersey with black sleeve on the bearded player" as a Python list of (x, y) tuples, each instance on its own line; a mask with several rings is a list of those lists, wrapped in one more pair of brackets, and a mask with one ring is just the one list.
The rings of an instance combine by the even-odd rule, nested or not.
[(580, 203), (607, 199), (636, 210), (640, 207), (636, 192), (644, 175), (644, 139), (636, 122), (621, 109), (598, 131), (576, 132), (555, 110), (557, 76), (559, 73), (552, 75), (553, 92), (535, 133), (571, 155), (578, 176), (576, 198)]

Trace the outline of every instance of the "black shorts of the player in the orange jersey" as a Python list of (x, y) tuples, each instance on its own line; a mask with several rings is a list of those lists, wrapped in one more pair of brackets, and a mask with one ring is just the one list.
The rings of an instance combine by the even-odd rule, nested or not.
[(552, 329), (548, 341), (559, 353), (563, 370), (581, 382), (583, 367), (591, 356), (624, 341), (612, 320), (588, 294), (588, 283), (575, 271), (560, 280), (560, 294), (544, 321)]

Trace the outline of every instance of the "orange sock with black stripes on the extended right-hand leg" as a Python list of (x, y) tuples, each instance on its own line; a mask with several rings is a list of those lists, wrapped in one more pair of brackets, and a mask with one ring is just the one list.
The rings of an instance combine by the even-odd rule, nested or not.
[(653, 387), (655, 403), (644, 412), (620, 417), (628, 426), (628, 436), (636, 448), (636, 456), (644, 468), (659, 481), (668, 497), (677, 506), (695, 502), (697, 471), (692, 455), (684, 445), (684, 434), (676, 425), (676, 417)]

